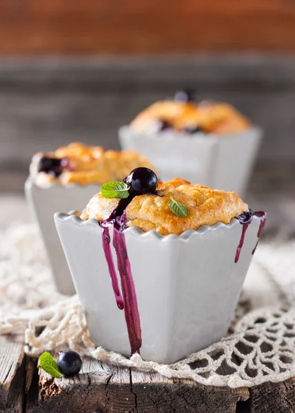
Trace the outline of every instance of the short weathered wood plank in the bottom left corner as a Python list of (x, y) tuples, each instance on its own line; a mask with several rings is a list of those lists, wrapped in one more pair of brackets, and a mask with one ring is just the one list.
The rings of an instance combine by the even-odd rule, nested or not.
[(23, 344), (17, 337), (0, 336), (0, 412), (21, 413), (26, 379)]

